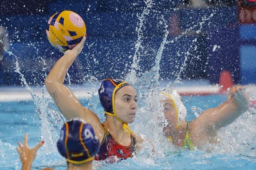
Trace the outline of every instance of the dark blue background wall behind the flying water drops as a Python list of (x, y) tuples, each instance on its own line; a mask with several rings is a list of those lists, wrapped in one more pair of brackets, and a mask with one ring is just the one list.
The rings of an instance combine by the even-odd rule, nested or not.
[[(230, 70), (235, 83), (255, 83), (255, 76), (249, 77), (246, 73), (255, 75), (255, 67), (248, 68), (244, 62), (248, 58), (244, 57), (248, 56), (246, 53), (255, 61), (255, 29), (249, 29), (250, 42), (240, 38), (240, 35), (246, 36), (244, 32), (248, 32), (248, 28), (241, 28), (237, 22), (237, 5), (230, 2), (233, 1), (220, 5), (212, 1), (206, 9), (192, 9), (183, 0), (154, 1), (142, 27), (142, 46), (137, 54), (140, 72), (150, 70), (155, 64), (164, 37), (161, 16), (170, 24), (170, 16), (175, 15), (179, 33), (168, 35), (168, 41), (173, 40), (173, 43), (165, 45), (160, 63), (161, 79), (175, 79), (187, 55), (187, 66), (181, 75), (183, 79), (207, 79), (218, 83), (220, 72)], [(13, 3), (16, 4), (8, 6)], [(135, 0), (45, 0), (38, 3), (9, 0), (1, 5), (0, 25), (7, 27), (9, 51), (18, 57), (21, 72), (31, 84), (41, 85), (45, 74), (62, 56), (47, 40), (47, 21), (55, 12), (72, 10), (85, 20), (88, 34), (83, 52), (69, 69), (72, 82), (83, 83), (92, 76), (97, 79), (124, 78), (135, 54), (138, 16), (146, 6), (145, 2)], [(247, 48), (248, 44), (250, 48)], [(213, 52), (214, 45), (220, 48)], [(8, 53), (3, 56), (0, 83), (20, 84), (19, 76), (14, 72), (16, 59)]]

